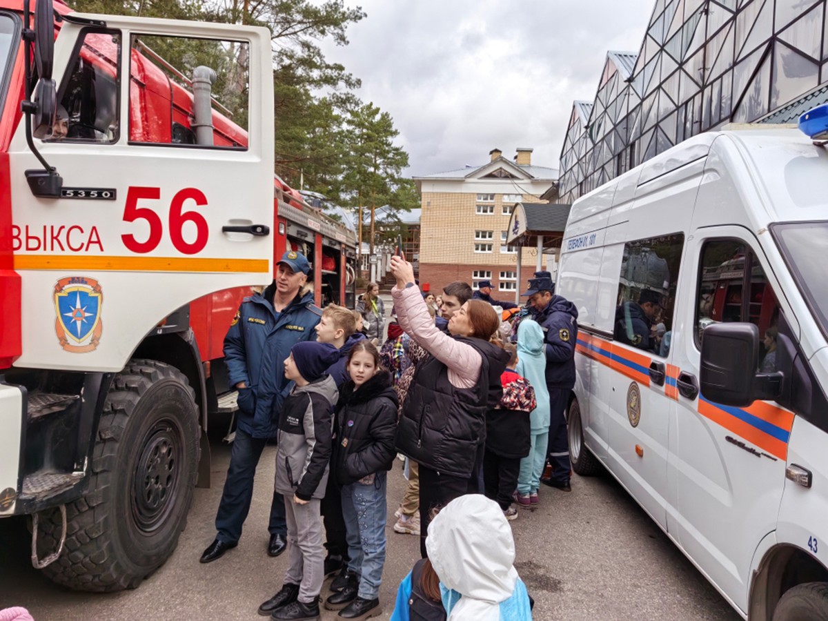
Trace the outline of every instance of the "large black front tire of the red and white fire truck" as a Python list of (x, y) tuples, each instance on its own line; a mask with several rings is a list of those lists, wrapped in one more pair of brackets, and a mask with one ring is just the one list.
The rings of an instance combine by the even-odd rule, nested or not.
[[(113, 379), (95, 437), (89, 488), (66, 505), (66, 542), (44, 573), (85, 591), (134, 589), (176, 549), (199, 463), (195, 392), (184, 374), (131, 360)], [(41, 522), (41, 555), (57, 549), (60, 513)]]

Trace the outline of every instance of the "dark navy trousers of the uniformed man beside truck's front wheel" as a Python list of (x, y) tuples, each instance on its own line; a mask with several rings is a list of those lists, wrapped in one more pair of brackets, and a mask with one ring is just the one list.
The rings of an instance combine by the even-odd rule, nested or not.
[[(235, 543), (242, 536), (242, 525), (248, 517), (253, 498), (253, 475), (266, 444), (266, 438), (254, 438), (241, 429), (236, 430), (224, 492), (219, 511), (215, 514), (215, 529), (219, 532), (217, 538), (220, 542)], [(287, 535), (285, 501), (281, 493), (273, 492), (267, 531), (271, 535)]]

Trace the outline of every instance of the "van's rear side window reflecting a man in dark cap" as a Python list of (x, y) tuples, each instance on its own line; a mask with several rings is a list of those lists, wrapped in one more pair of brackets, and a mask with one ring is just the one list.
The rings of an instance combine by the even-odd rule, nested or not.
[(651, 354), (670, 353), (684, 235), (624, 244), (614, 339)]

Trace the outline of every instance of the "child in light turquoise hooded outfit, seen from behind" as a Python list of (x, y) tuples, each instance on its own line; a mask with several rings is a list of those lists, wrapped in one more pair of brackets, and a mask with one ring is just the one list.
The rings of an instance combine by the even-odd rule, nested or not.
[(520, 463), (517, 475), (517, 506), (536, 508), (537, 489), (546, 464), (546, 444), (549, 441), (549, 390), (546, 388), (546, 354), (543, 330), (537, 321), (528, 317), (517, 326), (517, 367), (515, 373), (529, 380), (535, 389), (537, 407), (529, 415), (532, 449)]

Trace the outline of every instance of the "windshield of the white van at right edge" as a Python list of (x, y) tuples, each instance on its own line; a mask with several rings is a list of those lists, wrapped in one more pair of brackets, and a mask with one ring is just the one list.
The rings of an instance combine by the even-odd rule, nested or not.
[(828, 222), (773, 224), (771, 232), (822, 334), (828, 338), (828, 279), (824, 272)]

